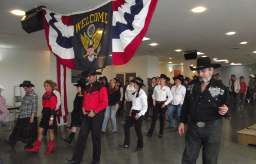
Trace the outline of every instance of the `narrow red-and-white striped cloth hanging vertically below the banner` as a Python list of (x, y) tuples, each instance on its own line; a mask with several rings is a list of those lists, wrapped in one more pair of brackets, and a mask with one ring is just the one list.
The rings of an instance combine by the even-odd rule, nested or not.
[(61, 94), (61, 105), (58, 112), (58, 124), (63, 125), (67, 123), (67, 94), (66, 94), (66, 67), (60, 64), (57, 59), (57, 78), (58, 78), (58, 89)]

